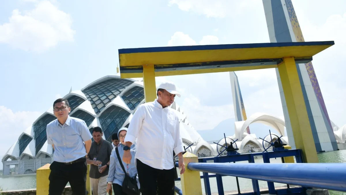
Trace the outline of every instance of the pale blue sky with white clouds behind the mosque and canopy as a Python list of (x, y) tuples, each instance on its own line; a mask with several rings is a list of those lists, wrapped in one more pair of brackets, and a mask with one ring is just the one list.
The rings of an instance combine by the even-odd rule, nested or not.
[[(346, 124), (346, 1), (292, 0), (305, 41), (335, 41), (313, 57), (330, 119)], [(118, 49), (266, 43), (261, 0), (0, 0), (0, 157), (52, 102), (116, 74)], [(247, 115), (283, 118), (274, 69), (236, 72)], [(228, 73), (175, 82), (197, 130), (234, 117)], [(0, 169), (2, 164), (0, 164)]]

